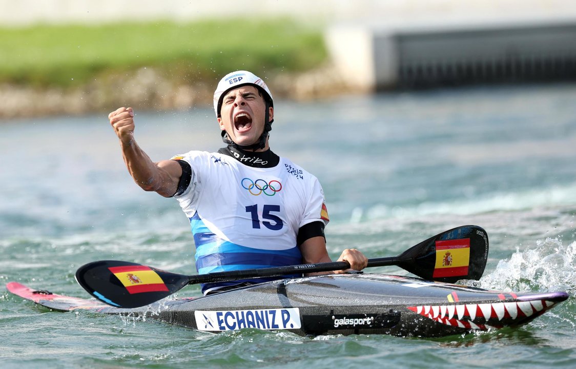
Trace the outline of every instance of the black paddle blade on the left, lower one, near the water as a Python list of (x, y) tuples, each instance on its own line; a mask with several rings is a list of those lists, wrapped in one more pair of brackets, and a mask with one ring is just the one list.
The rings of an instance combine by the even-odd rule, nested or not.
[(172, 295), (188, 284), (189, 277), (127, 261), (103, 260), (82, 265), (76, 280), (98, 300), (131, 308)]

